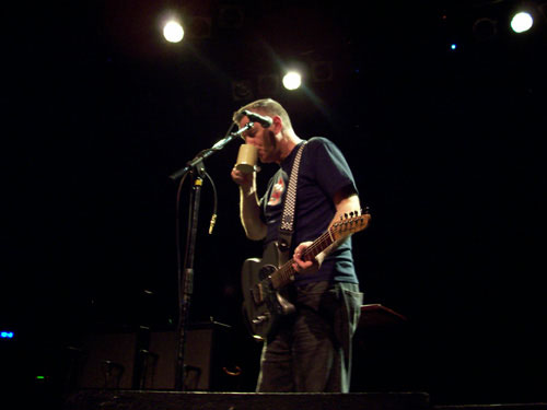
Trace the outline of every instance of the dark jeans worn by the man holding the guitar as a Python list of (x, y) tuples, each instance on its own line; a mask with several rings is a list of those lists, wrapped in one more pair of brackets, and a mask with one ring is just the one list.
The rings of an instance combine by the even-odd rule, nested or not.
[(294, 290), (296, 313), (265, 341), (257, 391), (348, 393), (351, 339), (363, 294), (354, 283), (316, 282)]

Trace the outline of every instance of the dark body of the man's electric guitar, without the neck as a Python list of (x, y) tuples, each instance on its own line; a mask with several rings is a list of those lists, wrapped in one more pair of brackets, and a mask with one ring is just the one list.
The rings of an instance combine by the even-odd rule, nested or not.
[(277, 268), (275, 244), (267, 246), (263, 259), (245, 260), (242, 269), (243, 308), (248, 329), (255, 339), (265, 339), (276, 330), (280, 317), (294, 312), (280, 291), (274, 288), (271, 274)]

